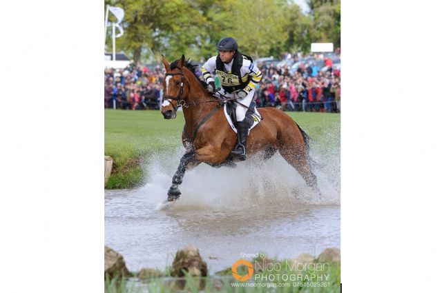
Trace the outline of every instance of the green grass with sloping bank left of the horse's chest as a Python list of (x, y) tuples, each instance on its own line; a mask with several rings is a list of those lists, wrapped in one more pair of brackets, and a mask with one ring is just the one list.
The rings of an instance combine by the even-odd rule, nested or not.
[(104, 154), (113, 158), (106, 188), (133, 188), (142, 183), (144, 158), (179, 146), (182, 125), (182, 115), (165, 121), (159, 111), (105, 110)]

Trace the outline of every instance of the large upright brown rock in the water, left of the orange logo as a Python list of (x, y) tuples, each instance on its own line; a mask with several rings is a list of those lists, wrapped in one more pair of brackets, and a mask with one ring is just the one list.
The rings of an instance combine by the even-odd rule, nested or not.
[(207, 276), (207, 264), (202, 260), (194, 245), (178, 250), (172, 263), (171, 276), (184, 276), (182, 270), (191, 276)]

